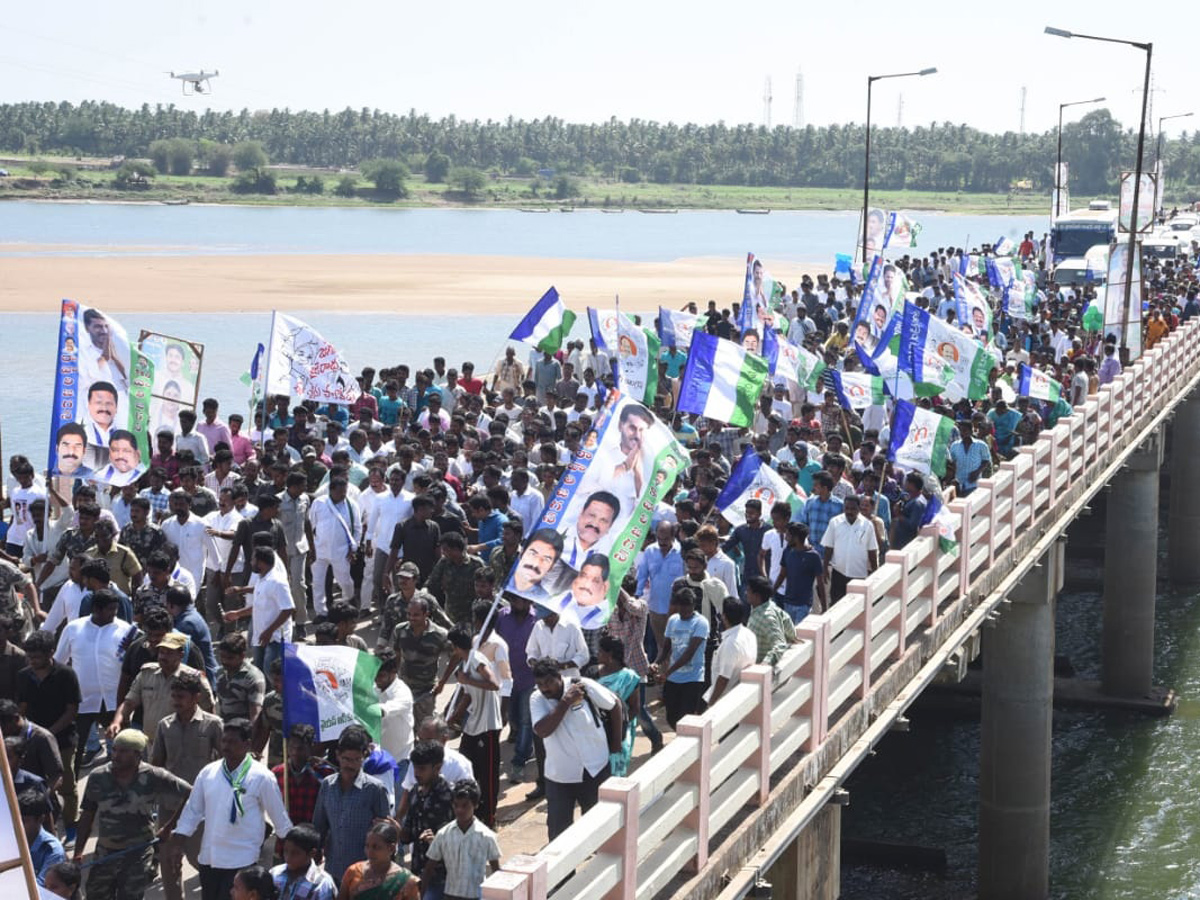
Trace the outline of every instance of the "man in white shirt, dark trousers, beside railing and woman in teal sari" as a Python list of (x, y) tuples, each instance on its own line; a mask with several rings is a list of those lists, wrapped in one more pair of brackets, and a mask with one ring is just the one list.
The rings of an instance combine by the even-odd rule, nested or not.
[[(570, 828), (576, 804), (582, 812), (596, 804), (608, 778), (608, 754), (624, 733), (624, 704), (590, 678), (564, 685), (558, 668), (545, 660), (533, 665), (533, 677), (538, 689), (529, 697), (529, 715), (546, 745), (546, 828), (554, 840)], [(608, 710), (607, 719), (601, 709)]]

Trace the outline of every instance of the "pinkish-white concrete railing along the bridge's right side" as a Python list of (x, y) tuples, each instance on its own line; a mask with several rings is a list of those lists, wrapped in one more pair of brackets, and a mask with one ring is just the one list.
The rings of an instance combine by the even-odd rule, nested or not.
[[(703, 869), (734, 816), (768, 802), (772, 775), (827, 749), (832, 732), (912, 650), (931, 655), (928, 637), (938, 623), (978, 604), (997, 562), (1056, 524), (1073, 485), (1099, 476), (1127, 439), (1180, 398), (1198, 366), (1200, 322), (1192, 322), (953, 500), (956, 552), (941, 547), (932, 526), (888, 552), (830, 610), (800, 623), (799, 643), (774, 668), (745, 670), (629, 778), (608, 779), (600, 802), (566, 832), (535, 856), (509, 859), (484, 896), (649, 900), (680, 872)], [(818, 774), (832, 764), (821, 762)]]

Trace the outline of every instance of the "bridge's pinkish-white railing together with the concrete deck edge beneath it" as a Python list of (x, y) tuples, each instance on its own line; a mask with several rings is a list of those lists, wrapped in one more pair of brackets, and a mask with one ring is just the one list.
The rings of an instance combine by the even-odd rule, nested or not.
[(557, 840), (510, 857), (484, 896), (745, 895), (1198, 380), (1193, 320), (952, 503), (956, 553), (934, 527), (889, 552), (804, 620), (774, 670), (746, 670)]

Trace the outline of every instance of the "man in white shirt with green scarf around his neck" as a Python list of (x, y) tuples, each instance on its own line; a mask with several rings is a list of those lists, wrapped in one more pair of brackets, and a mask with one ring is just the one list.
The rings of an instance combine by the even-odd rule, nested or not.
[(167, 852), (178, 858), (184, 852), (184, 839), (204, 823), (199, 853), (203, 900), (226, 900), (238, 870), (258, 862), (264, 814), (270, 816), (276, 834), (292, 830), (275, 775), (250, 755), (252, 731), (245, 719), (224, 724), (222, 758), (196, 776), (192, 796), (170, 836)]

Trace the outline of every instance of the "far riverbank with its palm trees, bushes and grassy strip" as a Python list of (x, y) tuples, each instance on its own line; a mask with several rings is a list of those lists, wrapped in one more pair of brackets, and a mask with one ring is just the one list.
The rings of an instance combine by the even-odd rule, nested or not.
[[(0, 104), (0, 197), (308, 204), (854, 209), (863, 130), (379, 110), (196, 113)], [(1105, 109), (1063, 130), (1072, 192), (1116, 193), (1135, 136)], [(1056, 134), (930, 124), (872, 132), (872, 196), (906, 209), (1040, 212)], [(1200, 132), (1165, 142), (1168, 202), (1200, 186)], [(148, 166), (150, 168), (148, 168)]]

